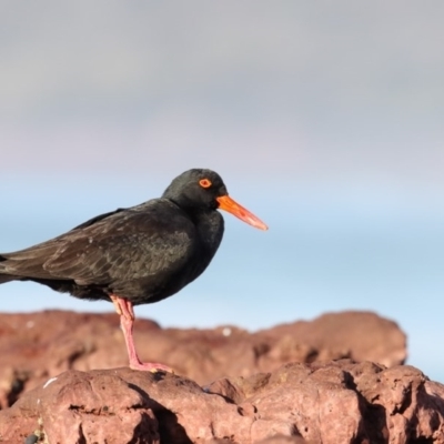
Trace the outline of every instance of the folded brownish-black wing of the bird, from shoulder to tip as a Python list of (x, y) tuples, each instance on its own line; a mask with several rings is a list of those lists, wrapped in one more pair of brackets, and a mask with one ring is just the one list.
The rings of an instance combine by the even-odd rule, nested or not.
[(127, 210), (10, 254), (9, 272), (80, 285), (144, 278), (183, 266), (194, 233), (192, 222), (168, 204)]

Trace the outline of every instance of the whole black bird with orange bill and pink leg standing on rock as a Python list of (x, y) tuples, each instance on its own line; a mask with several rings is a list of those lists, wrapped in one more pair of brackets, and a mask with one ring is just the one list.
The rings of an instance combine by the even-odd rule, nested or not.
[(193, 169), (162, 198), (98, 215), (73, 230), (14, 253), (0, 254), (0, 283), (33, 281), (87, 300), (111, 301), (120, 315), (130, 367), (142, 363), (133, 342), (133, 305), (179, 292), (209, 265), (223, 235), (225, 210), (260, 230), (266, 225), (232, 200), (221, 176)]

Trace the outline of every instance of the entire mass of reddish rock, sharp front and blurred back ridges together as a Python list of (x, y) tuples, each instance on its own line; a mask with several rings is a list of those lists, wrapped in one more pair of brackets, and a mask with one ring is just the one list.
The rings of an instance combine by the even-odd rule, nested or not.
[(176, 374), (122, 367), (114, 314), (0, 314), (0, 442), (444, 444), (444, 386), (373, 313), (253, 334), (139, 320), (135, 341)]

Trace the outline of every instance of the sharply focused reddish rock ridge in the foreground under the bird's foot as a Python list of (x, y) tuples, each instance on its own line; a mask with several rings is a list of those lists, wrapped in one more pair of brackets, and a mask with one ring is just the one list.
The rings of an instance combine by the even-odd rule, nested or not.
[[(0, 412), (0, 440), (23, 443), (444, 443), (444, 386), (416, 369), (292, 363), (271, 373), (188, 379), (68, 371)], [(37, 436), (36, 435), (36, 436)]]

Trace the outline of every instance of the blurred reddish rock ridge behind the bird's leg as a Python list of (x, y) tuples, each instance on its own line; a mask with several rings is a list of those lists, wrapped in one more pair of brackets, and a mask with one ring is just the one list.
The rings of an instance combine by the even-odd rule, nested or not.
[[(392, 366), (406, 357), (405, 335), (397, 325), (365, 312), (326, 314), (254, 334), (233, 326), (162, 330), (138, 320), (134, 335), (143, 360), (168, 364), (200, 384), (271, 372), (287, 362), (351, 357)], [(115, 314), (0, 314), (0, 407), (63, 371), (125, 365)]]

